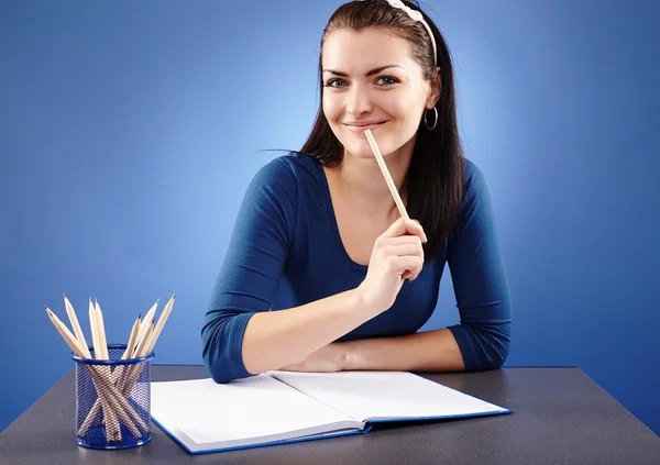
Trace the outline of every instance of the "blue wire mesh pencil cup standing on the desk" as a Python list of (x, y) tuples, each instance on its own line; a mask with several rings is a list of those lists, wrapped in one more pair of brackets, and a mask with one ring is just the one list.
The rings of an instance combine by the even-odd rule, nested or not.
[[(76, 443), (128, 449), (151, 441), (151, 361), (121, 359), (127, 345), (108, 345), (109, 359), (76, 362)], [(91, 356), (94, 351), (90, 348)]]

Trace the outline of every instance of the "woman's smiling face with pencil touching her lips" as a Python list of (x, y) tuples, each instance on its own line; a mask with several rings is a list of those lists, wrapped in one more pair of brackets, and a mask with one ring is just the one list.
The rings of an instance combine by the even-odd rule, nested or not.
[(374, 27), (337, 30), (326, 37), (321, 66), (323, 113), (349, 155), (373, 157), (367, 128), (383, 156), (413, 150), (425, 108), (438, 96), (406, 40)]

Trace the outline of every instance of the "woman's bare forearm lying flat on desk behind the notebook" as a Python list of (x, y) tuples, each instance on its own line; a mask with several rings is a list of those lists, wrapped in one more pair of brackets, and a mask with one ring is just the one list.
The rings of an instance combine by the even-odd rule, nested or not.
[(465, 365), (447, 328), (393, 337), (338, 343), (342, 369), (455, 372)]

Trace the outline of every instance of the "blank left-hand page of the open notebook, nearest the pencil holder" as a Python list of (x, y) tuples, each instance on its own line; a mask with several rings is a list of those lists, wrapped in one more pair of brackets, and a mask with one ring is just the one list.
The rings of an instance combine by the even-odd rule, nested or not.
[(210, 378), (152, 383), (151, 413), (170, 433), (217, 447), (317, 434), (327, 424), (359, 424), (267, 375), (223, 385)]

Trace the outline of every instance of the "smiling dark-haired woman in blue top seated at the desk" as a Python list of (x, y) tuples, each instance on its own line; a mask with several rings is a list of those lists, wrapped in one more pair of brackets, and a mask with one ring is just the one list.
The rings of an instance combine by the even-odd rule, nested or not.
[[(254, 177), (202, 329), (217, 383), (271, 369), (502, 366), (510, 303), (484, 179), (461, 154), (449, 51), (419, 8), (353, 1), (323, 31), (321, 108)], [(406, 209), (398, 218), (364, 130)], [(398, 218), (398, 219), (397, 219)], [(449, 264), (461, 324), (417, 332)], [(280, 283), (297, 306), (268, 311)]]

